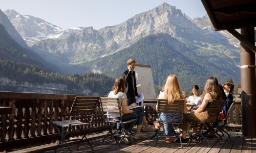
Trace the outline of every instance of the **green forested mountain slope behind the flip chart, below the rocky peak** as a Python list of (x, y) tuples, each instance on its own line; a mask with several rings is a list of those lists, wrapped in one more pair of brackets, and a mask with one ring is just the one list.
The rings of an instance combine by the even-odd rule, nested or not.
[(181, 42), (164, 33), (147, 36), (118, 53), (91, 61), (91, 65), (94, 65), (92, 71), (113, 78), (120, 77), (129, 58), (134, 58), (136, 63), (152, 66), (155, 86), (163, 86), (170, 73), (177, 75), (184, 91), (190, 91), (197, 84), (202, 92), (205, 81), (211, 76), (217, 77), (220, 83), (229, 78), (234, 82), (240, 80), (238, 50)]

